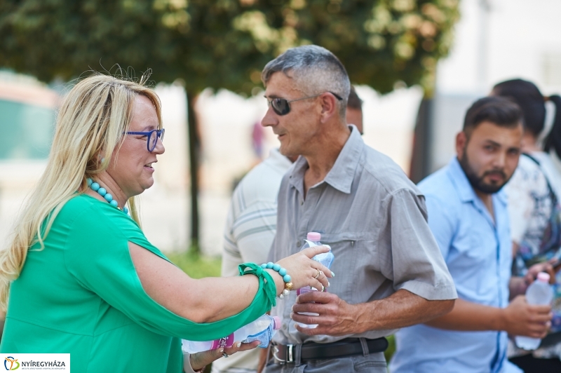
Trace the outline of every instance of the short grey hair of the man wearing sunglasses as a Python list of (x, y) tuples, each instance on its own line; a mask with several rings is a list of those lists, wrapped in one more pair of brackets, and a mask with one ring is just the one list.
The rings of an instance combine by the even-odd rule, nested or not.
[(263, 84), (267, 85), (271, 76), (283, 72), (295, 79), (298, 89), (306, 95), (331, 92), (343, 100), (338, 100), (339, 114), (345, 117), (346, 104), (351, 92), (351, 81), (346, 69), (333, 53), (320, 46), (299, 46), (290, 48), (265, 65), (261, 73)]

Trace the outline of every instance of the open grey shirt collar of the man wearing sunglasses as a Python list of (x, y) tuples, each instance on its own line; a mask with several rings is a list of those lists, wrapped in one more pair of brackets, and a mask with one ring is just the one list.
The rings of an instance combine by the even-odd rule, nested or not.
[[(363, 138), (360, 137), (356, 126), (350, 125), (349, 129), (351, 130), (349, 139), (346, 140), (333, 167), (327, 172), (325, 179), (323, 179), (323, 182), (346, 194), (351, 193), (351, 185), (353, 184), (358, 159), (364, 148)], [(303, 193), (304, 172), (306, 172), (307, 168), (308, 161), (303, 156), (300, 156), (295, 162), (290, 175), (290, 184), (300, 193)]]

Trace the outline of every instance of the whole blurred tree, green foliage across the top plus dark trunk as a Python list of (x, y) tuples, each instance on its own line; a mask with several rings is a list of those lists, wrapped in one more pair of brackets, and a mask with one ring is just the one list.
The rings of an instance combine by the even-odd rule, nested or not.
[[(433, 88), (459, 0), (0, 0), (0, 67), (43, 81), (114, 64), (154, 81), (181, 79), (189, 97), (191, 170), (198, 136), (192, 98), (205, 88), (251, 93), (283, 50), (332, 50), (351, 81), (381, 93), (397, 82)], [(191, 238), (198, 240), (197, 172)]]

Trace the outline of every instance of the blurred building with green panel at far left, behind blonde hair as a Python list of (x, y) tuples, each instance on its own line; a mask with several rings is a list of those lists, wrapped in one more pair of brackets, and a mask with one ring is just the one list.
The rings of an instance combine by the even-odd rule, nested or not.
[(0, 73), (0, 242), (43, 172), (59, 96), (27, 76)]

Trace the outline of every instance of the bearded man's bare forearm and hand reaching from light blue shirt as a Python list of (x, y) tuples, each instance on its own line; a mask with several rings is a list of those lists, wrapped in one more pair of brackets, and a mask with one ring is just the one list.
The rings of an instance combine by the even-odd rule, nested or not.
[(426, 325), (445, 330), (504, 330), (511, 335), (543, 338), (551, 320), (550, 306), (532, 306), (525, 297), (516, 297), (506, 308), (484, 306), (457, 299), (454, 309)]

